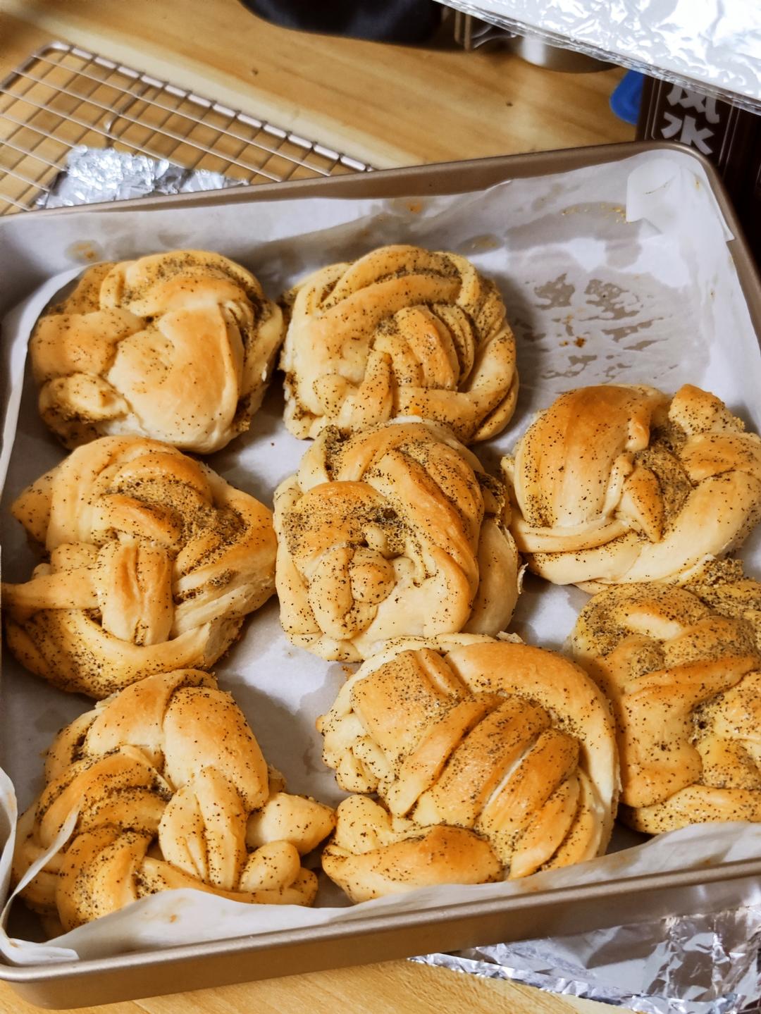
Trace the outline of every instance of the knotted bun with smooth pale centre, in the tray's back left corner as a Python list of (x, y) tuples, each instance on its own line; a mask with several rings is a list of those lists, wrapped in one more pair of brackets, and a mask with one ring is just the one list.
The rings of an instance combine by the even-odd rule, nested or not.
[(40, 412), (67, 447), (134, 433), (211, 453), (248, 428), (282, 339), (280, 308), (219, 254), (96, 265), (34, 329)]

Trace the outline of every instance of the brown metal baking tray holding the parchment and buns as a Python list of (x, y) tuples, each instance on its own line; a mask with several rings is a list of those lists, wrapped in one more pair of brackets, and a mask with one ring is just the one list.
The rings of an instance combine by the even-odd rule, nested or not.
[[(756, 331), (761, 283), (735, 213), (711, 165), (680, 145), (632, 143), (392, 169), (338, 178), (236, 188), (213, 194), (147, 198), (101, 205), (113, 211), (186, 207), (307, 196), (412, 197), (479, 190), (503, 180), (603, 165), (644, 151), (674, 150), (698, 160), (735, 235), (729, 243)], [(41, 211), (43, 216), (80, 209)], [(403, 237), (400, 237), (403, 238)], [(756, 897), (758, 895), (758, 897)], [(761, 859), (603, 883), (536, 891), (506, 900), (443, 906), (426, 912), (368, 916), (338, 926), (262, 933), (214, 943), (138, 951), (48, 965), (0, 962), (0, 980), (27, 1001), (70, 1008), (387, 960), (430, 951), (530, 937), (580, 933), (691, 912), (761, 901)]]

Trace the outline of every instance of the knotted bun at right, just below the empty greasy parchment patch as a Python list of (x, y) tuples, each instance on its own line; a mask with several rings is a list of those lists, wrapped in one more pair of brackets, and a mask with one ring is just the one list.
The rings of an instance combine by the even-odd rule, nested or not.
[(599, 591), (682, 583), (740, 546), (761, 516), (761, 438), (713, 394), (580, 387), (503, 461), (511, 530), (531, 570)]

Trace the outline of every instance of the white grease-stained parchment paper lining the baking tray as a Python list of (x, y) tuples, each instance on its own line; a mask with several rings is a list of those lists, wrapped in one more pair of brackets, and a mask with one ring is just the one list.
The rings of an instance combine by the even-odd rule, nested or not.
[[(219, 250), (251, 269), (277, 298), (305, 273), (387, 242), (414, 242), (470, 258), (493, 277), (516, 331), (521, 394), (508, 431), (477, 451), (496, 469), (531, 415), (559, 392), (597, 382), (645, 382), (674, 390), (703, 385), (761, 429), (761, 360), (728, 252), (729, 238), (709, 185), (689, 155), (639, 155), (561, 175), (520, 179), (452, 197), (344, 201), (306, 199), (145, 211), (84, 211), (0, 221), (5, 312), (0, 345), (6, 417), (0, 481), (3, 578), (28, 578), (35, 559), (8, 513), (11, 500), (64, 455), (40, 422), (24, 376), (25, 345), (36, 316), (82, 261), (118, 260), (174, 247)], [(14, 304), (15, 309), (11, 309)], [(4, 389), (3, 389), (4, 388)], [(250, 431), (208, 458), (228, 481), (272, 505), (275, 487), (298, 466), (306, 443), (283, 427), (273, 389)], [(759, 539), (744, 551), (752, 573)], [(530, 578), (512, 630), (560, 648), (587, 596)], [(335, 803), (343, 793), (321, 763), (317, 715), (329, 708), (345, 667), (293, 647), (271, 600), (251, 617), (216, 666), (246, 714), (268, 760), (292, 792)], [(64, 724), (90, 707), (31, 676), (5, 654), (0, 680), (0, 763), (24, 809), (42, 788), (42, 752)], [(0, 781), (0, 904), (14, 826), (10, 783)], [(636, 837), (622, 832), (614, 848)], [(420, 911), (761, 855), (761, 826), (704, 825), (645, 846), (511, 884), (427, 889), (347, 907), (325, 885), (318, 907), (245, 906), (196, 891), (143, 899), (41, 948), (4, 939), (11, 960), (101, 956), (290, 927), (351, 923), (359, 916)], [(715, 885), (716, 903), (728, 890)], [(708, 889), (706, 888), (706, 891)], [(706, 897), (709, 896), (706, 894)], [(730, 901), (732, 899), (730, 898)], [(737, 898), (738, 903), (754, 899)], [(348, 927), (348, 933), (351, 928)]]

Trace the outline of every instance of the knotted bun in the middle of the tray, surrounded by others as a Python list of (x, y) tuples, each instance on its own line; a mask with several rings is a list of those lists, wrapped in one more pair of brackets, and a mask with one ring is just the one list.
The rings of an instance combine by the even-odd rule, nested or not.
[(502, 484), (443, 427), (324, 430), (275, 494), (286, 634), (346, 661), (391, 637), (497, 634), (518, 596), (504, 506)]

